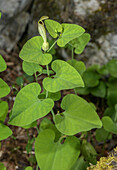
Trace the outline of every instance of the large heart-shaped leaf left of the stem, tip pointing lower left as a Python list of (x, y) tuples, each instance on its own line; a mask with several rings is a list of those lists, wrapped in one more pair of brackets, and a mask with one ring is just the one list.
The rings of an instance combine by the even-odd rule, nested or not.
[(16, 126), (26, 126), (47, 115), (54, 106), (52, 99), (40, 100), (41, 87), (31, 83), (17, 94), (9, 123)]

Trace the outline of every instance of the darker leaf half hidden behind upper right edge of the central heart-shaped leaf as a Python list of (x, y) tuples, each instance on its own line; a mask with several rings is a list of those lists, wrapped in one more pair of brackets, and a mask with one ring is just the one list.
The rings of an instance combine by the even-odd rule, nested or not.
[(74, 67), (80, 75), (86, 70), (85, 64), (82, 61), (77, 61), (75, 59), (67, 61), (72, 67)]

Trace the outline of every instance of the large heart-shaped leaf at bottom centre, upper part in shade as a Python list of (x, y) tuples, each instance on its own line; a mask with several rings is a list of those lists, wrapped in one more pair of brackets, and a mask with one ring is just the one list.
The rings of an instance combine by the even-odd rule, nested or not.
[(78, 139), (68, 137), (63, 144), (54, 142), (55, 133), (44, 130), (35, 141), (35, 155), (41, 170), (68, 170), (80, 154)]

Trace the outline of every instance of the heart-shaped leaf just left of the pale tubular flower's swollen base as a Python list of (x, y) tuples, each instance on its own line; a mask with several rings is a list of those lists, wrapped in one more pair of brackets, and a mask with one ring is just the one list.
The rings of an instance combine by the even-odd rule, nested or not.
[(51, 54), (42, 53), (41, 47), (43, 39), (41, 36), (35, 36), (28, 40), (20, 51), (20, 58), (24, 61), (47, 65), (52, 61)]

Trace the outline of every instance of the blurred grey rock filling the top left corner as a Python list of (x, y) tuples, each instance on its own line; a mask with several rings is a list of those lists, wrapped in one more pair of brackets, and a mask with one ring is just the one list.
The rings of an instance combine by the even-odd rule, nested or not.
[(10, 52), (21, 39), (30, 16), (26, 12), (32, 0), (0, 0), (0, 48)]

